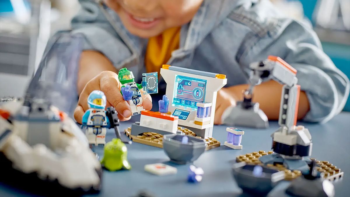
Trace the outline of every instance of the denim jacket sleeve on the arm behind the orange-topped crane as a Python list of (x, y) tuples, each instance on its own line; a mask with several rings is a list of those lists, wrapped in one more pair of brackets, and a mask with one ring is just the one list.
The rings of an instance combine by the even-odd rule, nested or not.
[(310, 25), (279, 19), (242, 62), (264, 60), (268, 55), (279, 56), (297, 69), (298, 84), (310, 103), (305, 121), (327, 122), (343, 109), (349, 95), (349, 79), (323, 52)]

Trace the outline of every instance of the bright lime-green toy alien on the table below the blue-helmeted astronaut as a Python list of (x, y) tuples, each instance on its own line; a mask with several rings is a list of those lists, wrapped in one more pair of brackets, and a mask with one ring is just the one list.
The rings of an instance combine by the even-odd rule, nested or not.
[(131, 169), (131, 165), (127, 160), (126, 145), (119, 138), (113, 138), (112, 141), (106, 143), (101, 164), (109, 171), (116, 171), (121, 168)]

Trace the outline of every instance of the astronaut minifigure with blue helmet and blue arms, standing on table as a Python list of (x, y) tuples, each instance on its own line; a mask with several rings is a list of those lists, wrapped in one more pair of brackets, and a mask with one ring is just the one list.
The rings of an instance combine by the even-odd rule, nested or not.
[(109, 119), (106, 116), (106, 96), (100, 90), (93, 90), (87, 97), (89, 109), (83, 116), (83, 125), (87, 127), (85, 135), (89, 144), (99, 145), (106, 143), (106, 129), (109, 128)]

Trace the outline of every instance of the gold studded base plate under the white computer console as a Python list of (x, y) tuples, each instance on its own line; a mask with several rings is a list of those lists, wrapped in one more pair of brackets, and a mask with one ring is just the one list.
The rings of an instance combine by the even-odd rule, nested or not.
[[(202, 137), (197, 136), (195, 133), (193, 133), (193, 131), (187, 128), (177, 127), (177, 129), (181, 130), (186, 135), (192, 135), (202, 139)], [(134, 136), (134, 135), (130, 135), (131, 127), (128, 127), (127, 129), (125, 129), (124, 132), (126, 136), (128, 136), (133, 142), (146, 144), (153, 147), (163, 148), (163, 135), (161, 134), (145, 132), (142, 135)], [(204, 140), (205, 140), (205, 150), (210, 150), (220, 146), (220, 142), (215, 140), (215, 138), (209, 137), (209, 138), (204, 138)]]

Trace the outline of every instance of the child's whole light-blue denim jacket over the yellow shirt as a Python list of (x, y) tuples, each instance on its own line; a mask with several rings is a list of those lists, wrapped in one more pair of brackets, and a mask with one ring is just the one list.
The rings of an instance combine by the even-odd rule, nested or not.
[[(148, 40), (130, 34), (111, 9), (79, 1), (82, 8), (71, 25), (73, 33), (85, 35), (85, 49), (101, 52), (117, 69), (127, 67), (135, 76), (145, 72)], [(268, 55), (297, 69), (310, 103), (304, 120), (327, 122), (343, 109), (349, 79), (324, 54), (309, 24), (285, 17), (269, 0), (204, 0), (181, 27), (180, 47), (167, 64), (225, 74), (228, 87), (248, 83), (249, 64)]]

